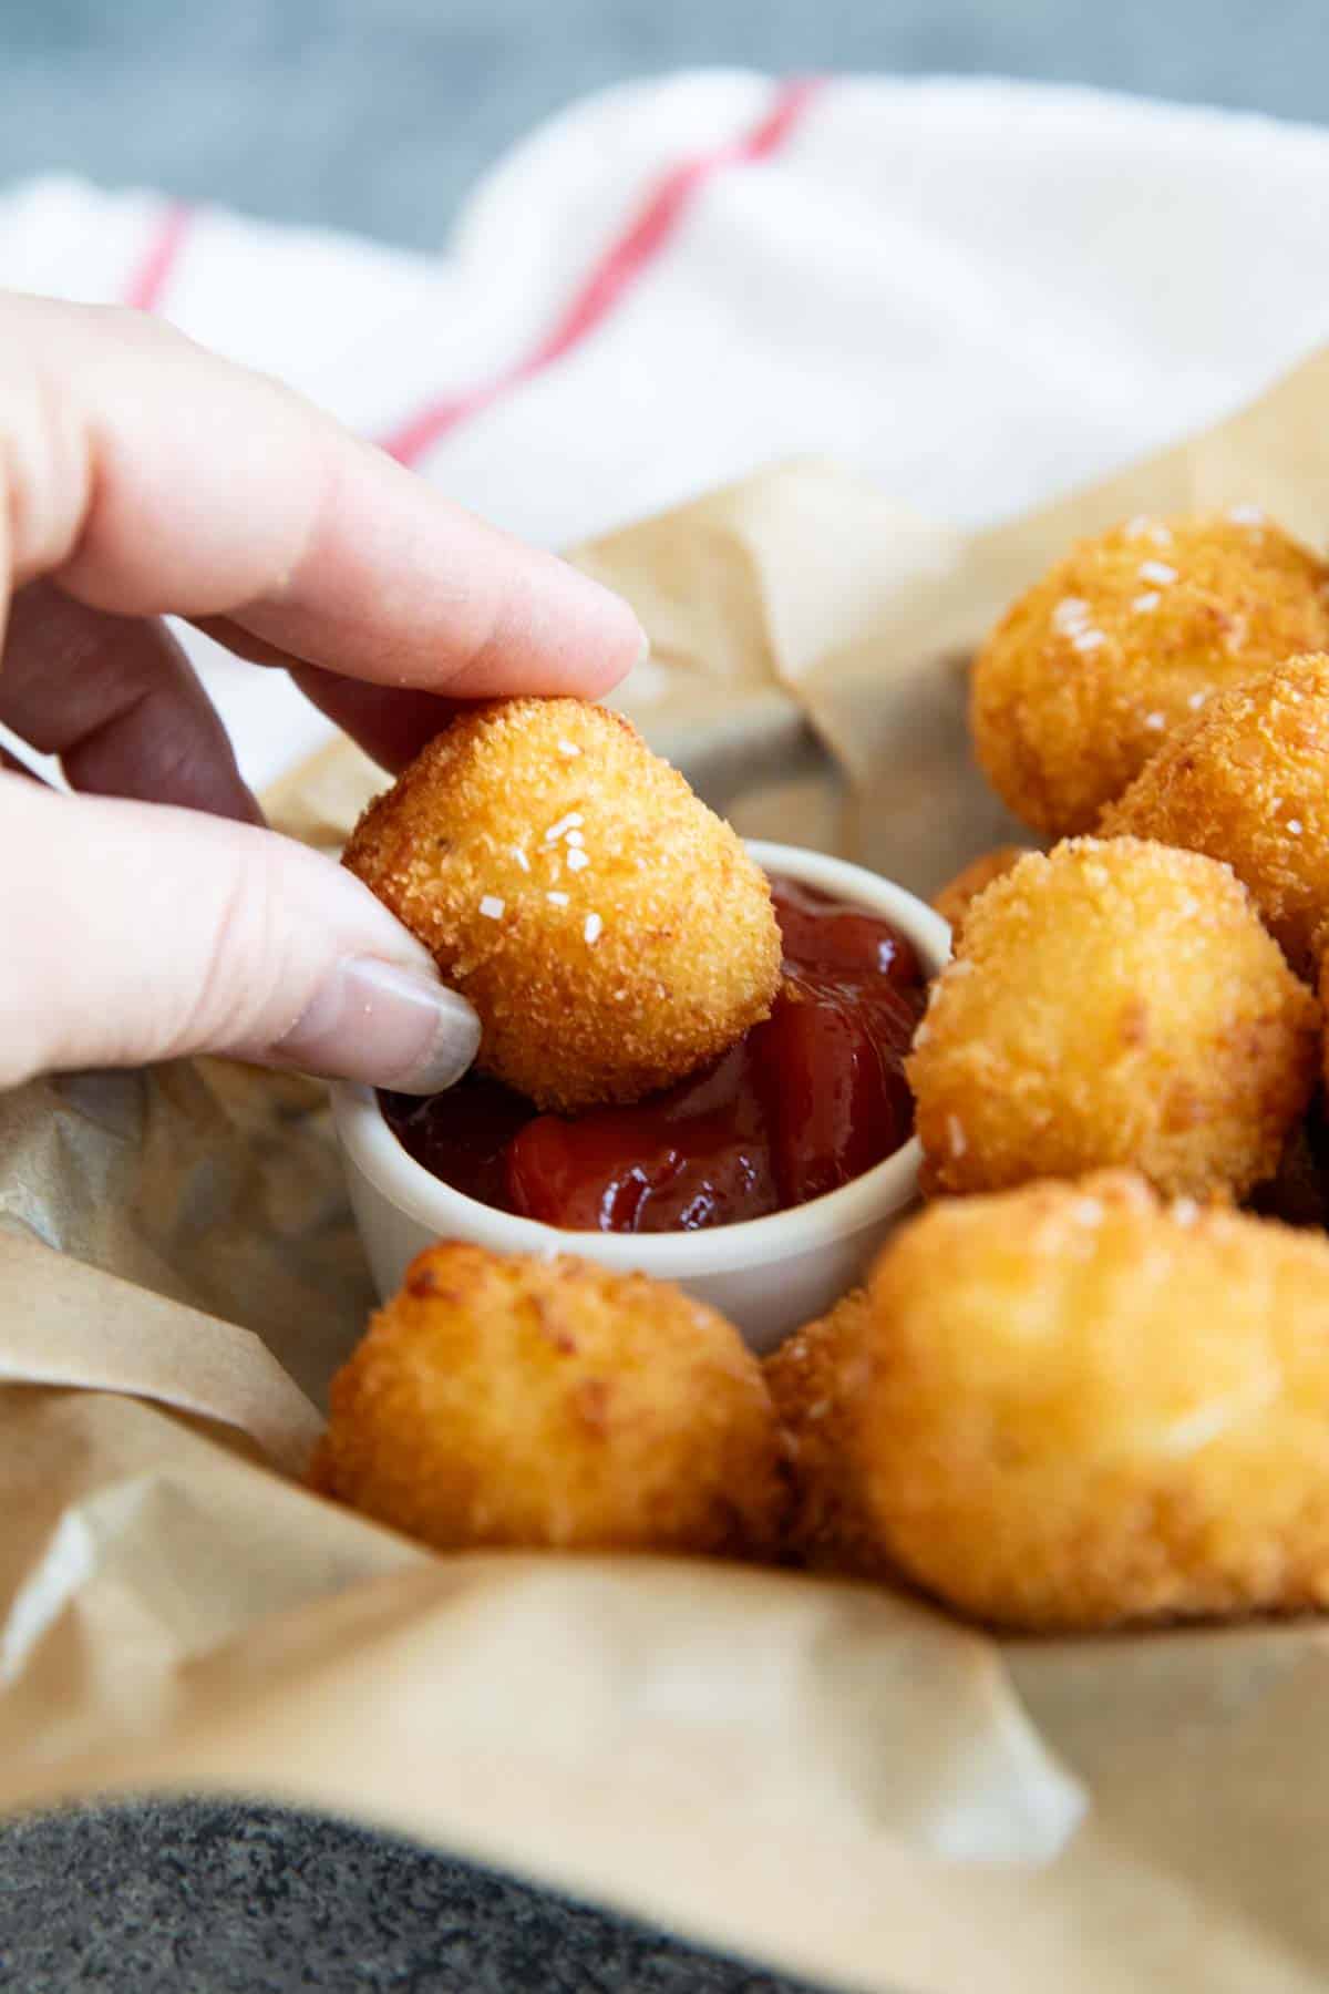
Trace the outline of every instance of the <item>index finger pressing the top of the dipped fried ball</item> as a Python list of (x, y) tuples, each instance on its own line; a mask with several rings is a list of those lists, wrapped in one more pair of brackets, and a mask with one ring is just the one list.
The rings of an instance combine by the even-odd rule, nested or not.
[(137, 313), (2, 299), (0, 445), (4, 578), (50, 574), (94, 608), (227, 616), (309, 664), (456, 696), (598, 694), (644, 644), (600, 584)]

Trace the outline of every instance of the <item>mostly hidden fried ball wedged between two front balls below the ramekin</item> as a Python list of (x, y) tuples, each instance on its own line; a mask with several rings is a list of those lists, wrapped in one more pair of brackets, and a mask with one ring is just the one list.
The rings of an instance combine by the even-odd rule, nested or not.
[(811, 1571), (891, 1577), (861, 1488), (849, 1472), (847, 1432), (867, 1376), (869, 1304), (863, 1288), (789, 1336), (763, 1364), (781, 1426), (791, 1486), (785, 1551)]

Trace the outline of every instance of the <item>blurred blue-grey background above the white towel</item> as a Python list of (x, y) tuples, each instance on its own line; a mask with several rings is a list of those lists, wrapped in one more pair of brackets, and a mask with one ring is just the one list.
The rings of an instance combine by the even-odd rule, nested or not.
[(432, 247), (626, 76), (998, 72), (1323, 120), (1325, 0), (0, 0), (0, 179), (66, 167)]

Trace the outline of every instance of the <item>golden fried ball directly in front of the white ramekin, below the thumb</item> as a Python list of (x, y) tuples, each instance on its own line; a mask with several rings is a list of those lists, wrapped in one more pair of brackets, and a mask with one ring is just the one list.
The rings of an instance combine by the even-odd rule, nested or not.
[(775, 1543), (775, 1412), (737, 1330), (590, 1262), (438, 1244), (333, 1378), (311, 1484), (440, 1551)]

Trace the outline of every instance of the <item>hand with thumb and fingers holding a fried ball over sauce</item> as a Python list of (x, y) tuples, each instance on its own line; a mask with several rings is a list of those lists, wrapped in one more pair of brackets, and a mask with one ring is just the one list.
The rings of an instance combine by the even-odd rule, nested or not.
[(197, 1051), (448, 1085), (474, 1013), (261, 828), (163, 614), (399, 768), (448, 700), (608, 690), (632, 612), (155, 321), (0, 297), (0, 720), (80, 792), (0, 774), (0, 1087)]

